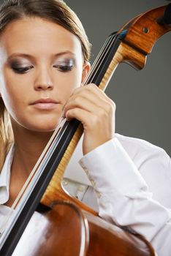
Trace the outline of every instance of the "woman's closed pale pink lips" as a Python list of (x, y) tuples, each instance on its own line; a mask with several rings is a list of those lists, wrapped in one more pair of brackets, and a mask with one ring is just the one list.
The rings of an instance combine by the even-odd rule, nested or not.
[(56, 105), (59, 102), (57, 102), (54, 99), (37, 99), (34, 102), (31, 102), (30, 105), (34, 106), (34, 108), (40, 109), (40, 110), (51, 110), (53, 108), (56, 108)]

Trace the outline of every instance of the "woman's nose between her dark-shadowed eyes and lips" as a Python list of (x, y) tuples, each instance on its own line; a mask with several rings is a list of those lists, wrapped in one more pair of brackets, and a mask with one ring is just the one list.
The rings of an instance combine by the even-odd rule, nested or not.
[(39, 69), (37, 77), (34, 81), (34, 89), (36, 91), (53, 90), (53, 79), (47, 68)]

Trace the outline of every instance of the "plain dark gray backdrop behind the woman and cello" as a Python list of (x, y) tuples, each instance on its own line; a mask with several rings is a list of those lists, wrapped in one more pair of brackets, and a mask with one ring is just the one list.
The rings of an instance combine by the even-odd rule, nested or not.
[[(113, 31), (150, 9), (169, 4), (164, 0), (66, 0), (83, 23), (93, 45), (91, 62)], [(107, 87), (117, 105), (116, 132), (161, 146), (171, 156), (170, 69), (171, 32), (161, 37), (141, 71), (121, 64)]]

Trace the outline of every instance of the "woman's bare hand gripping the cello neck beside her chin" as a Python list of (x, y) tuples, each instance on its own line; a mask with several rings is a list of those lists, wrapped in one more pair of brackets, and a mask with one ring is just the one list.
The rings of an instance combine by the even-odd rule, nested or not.
[(75, 89), (64, 105), (64, 116), (83, 124), (83, 154), (113, 138), (115, 103), (93, 83)]

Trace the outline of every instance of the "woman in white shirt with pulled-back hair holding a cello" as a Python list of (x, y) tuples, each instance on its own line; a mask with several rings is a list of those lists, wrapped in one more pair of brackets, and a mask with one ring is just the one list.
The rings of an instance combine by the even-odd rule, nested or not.
[[(70, 182), (70, 167), (66, 182), (84, 202), (95, 206), (97, 200), (101, 217), (131, 225), (159, 255), (169, 255), (160, 230), (170, 219), (170, 159), (150, 143), (115, 135), (114, 102), (94, 84), (81, 86), (90, 69), (90, 44), (80, 20), (57, 0), (9, 0), (0, 13), (1, 219), (61, 116), (77, 118), (84, 128), (80, 165), (92, 187), (81, 178), (82, 190)], [(157, 189), (154, 171), (166, 182)], [(160, 219), (152, 218), (154, 210)]]

